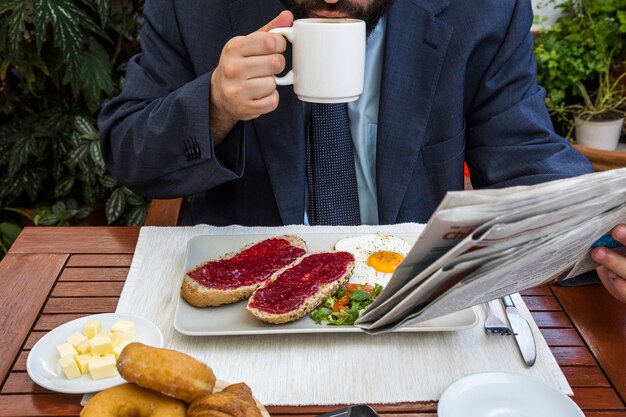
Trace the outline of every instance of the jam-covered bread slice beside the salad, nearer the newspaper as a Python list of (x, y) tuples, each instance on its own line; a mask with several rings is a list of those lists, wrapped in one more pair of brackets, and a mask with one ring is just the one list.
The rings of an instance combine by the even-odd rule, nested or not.
[(268, 323), (298, 320), (345, 284), (353, 269), (354, 256), (349, 252), (305, 255), (261, 284), (246, 310)]

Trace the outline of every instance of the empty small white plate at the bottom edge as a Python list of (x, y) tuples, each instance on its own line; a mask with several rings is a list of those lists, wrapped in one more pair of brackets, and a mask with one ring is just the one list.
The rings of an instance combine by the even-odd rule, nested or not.
[(444, 391), (439, 417), (584, 417), (567, 395), (536, 378), (487, 372), (459, 379)]

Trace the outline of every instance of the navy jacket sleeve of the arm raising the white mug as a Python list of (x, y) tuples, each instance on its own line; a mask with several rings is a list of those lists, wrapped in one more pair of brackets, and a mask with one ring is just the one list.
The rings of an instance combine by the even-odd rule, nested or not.
[(240, 178), (244, 168), (243, 123), (216, 157), (209, 124), (212, 72), (194, 72), (174, 4), (146, 1), (142, 52), (129, 61), (121, 94), (99, 117), (111, 174), (137, 193), (156, 198), (213, 188)]

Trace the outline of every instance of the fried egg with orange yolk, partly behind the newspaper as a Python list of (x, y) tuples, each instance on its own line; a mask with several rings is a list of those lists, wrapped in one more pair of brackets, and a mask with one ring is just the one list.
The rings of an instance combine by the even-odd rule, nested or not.
[(354, 272), (350, 282), (355, 284), (380, 284), (383, 287), (409, 253), (411, 245), (404, 239), (382, 233), (354, 236), (339, 240), (335, 250), (354, 255)]

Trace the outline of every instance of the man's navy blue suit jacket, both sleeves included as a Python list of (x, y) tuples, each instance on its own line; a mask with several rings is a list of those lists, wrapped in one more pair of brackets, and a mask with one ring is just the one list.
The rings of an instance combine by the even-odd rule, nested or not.
[[(111, 173), (149, 197), (187, 196), (186, 223), (302, 223), (304, 119), (292, 87), (279, 87), (276, 111), (240, 122), (217, 148), (210, 134), (209, 80), (222, 47), (282, 8), (147, 0), (142, 53), (99, 120)], [(395, 1), (376, 149), (381, 224), (426, 222), (446, 191), (463, 188), (464, 161), (476, 188), (591, 171), (553, 132), (532, 18), (529, 0)]]

